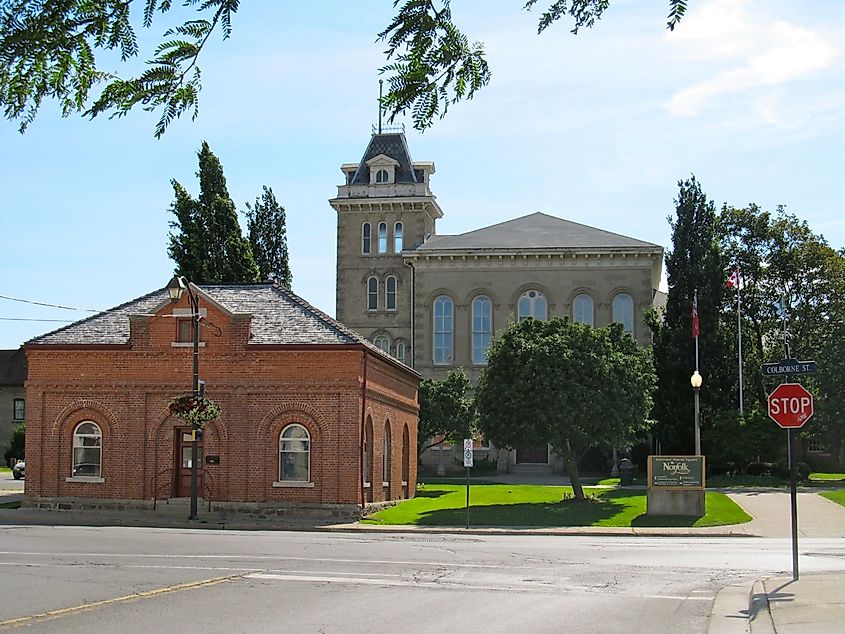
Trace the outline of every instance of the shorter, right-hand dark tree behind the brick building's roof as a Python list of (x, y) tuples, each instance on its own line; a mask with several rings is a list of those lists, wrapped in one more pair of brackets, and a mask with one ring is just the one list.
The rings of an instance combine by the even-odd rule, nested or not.
[(249, 244), (262, 280), (273, 280), (286, 288), (293, 285), (293, 273), (288, 263), (288, 232), (285, 208), (277, 201), (271, 187), (246, 204)]

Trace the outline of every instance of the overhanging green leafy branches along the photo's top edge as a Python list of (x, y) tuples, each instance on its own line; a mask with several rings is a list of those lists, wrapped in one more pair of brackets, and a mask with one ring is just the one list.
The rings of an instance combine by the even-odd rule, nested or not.
[[(401, 0), (394, 0), (394, 7)], [(667, 0), (667, 26), (673, 29), (686, 11), (686, 0)], [(490, 81), (484, 47), (469, 43), (452, 21), (451, 0), (405, 0), (379, 37), (388, 43), (390, 92), (384, 105), (390, 118), (409, 111), (414, 126), (425, 129), (449, 104), (470, 99)], [(55, 100), (62, 116), (82, 113), (121, 117), (139, 106), (158, 110), (156, 137), (176, 118), (198, 113), (200, 54), (215, 32), (232, 33), (240, 0), (185, 0), (196, 7), (187, 20), (168, 28), (146, 69), (122, 78), (102, 71), (96, 53), (116, 51), (124, 63), (141, 55), (136, 29), (149, 29), (171, 15), (171, 0), (144, 0), (133, 15), (132, 0), (0, 0), (0, 106), (4, 116), (19, 122), (23, 132), (45, 99)], [(532, 9), (537, 0), (527, 0)], [(539, 20), (538, 32), (562, 18), (573, 21), (573, 33), (591, 27), (610, 0), (555, 0)], [(183, 11), (186, 9), (182, 9)], [(391, 61), (392, 60), (392, 61)], [(93, 96), (95, 87), (102, 91)]]

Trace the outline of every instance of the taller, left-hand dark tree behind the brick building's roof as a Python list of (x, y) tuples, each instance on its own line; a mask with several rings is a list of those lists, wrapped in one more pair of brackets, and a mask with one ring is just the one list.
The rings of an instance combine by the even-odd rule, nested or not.
[(258, 267), (243, 237), (220, 160), (203, 141), (199, 158), (200, 195), (194, 199), (175, 179), (167, 253), (176, 274), (200, 284), (258, 281)]

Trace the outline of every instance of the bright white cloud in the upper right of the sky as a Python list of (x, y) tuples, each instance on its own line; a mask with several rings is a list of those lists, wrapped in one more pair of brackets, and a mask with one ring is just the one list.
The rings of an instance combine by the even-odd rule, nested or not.
[(834, 65), (841, 50), (832, 37), (782, 18), (766, 21), (765, 10), (758, 6), (751, 11), (752, 4), (714, 0), (667, 36), (691, 74), (700, 74), (708, 63), (716, 66), (709, 77), (672, 96), (666, 106), (670, 114), (693, 116), (716, 100), (751, 94), (757, 115), (777, 123), (770, 91)]

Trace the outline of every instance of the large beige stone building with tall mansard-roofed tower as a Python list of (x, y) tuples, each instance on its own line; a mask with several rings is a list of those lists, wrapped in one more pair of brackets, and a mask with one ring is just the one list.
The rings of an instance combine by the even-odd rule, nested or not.
[[(425, 377), (475, 379), (511, 320), (619, 321), (642, 345), (663, 264), (656, 244), (533, 213), (438, 235), (433, 162), (411, 159), (401, 131), (373, 134), (329, 201), (337, 212), (337, 318)], [(432, 458), (429, 457), (429, 460)], [(504, 460), (499, 456), (500, 460)], [(548, 447), (510, 464), (552, 464)]]

